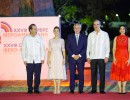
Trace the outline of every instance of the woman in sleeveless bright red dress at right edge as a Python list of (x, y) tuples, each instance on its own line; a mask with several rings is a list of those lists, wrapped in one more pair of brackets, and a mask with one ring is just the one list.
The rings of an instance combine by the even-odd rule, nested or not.
[(126, 94), (126, 83), (130, 80), (130, 39), (125, 35), (125, 26), (120, 26), (119, 32), (113, 44), (110, 79), (118, 82), (119, 94)]

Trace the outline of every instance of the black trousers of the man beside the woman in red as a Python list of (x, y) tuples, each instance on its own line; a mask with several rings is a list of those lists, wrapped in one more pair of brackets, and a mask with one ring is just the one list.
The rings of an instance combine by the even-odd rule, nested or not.
[(97, 91), (97, 70), (99, 69), (100, 75), (100, 91), (105, 88), (105, 63), (104, 59), (91, 60), (91, 85), (92, 91)]

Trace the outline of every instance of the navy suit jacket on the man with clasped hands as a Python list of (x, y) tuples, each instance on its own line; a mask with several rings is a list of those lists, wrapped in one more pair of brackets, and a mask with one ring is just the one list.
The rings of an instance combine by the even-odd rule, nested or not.
[(67, 38), (66, 43), (66, 51), (68, 53), (68, 60), (70, 63), (76, 62), (72, 55), (80, 54), (82, 57), (80, 57), (77, 62), (84, 63), (86, 61), (86, 48), (87, 48), (87, 37), (84, 34), (79, 35), (78, 45), (76, 43), (76, 37), (75, 34), (70, 34)]

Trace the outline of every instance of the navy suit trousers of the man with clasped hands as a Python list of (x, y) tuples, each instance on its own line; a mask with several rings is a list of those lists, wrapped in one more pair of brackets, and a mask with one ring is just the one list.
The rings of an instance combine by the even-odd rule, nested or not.
[(78, 71), (78, 78), (79, 78), (79, 91), (83, 90), (84, 87), (84, 63), (69, 63), (70, 68), (70, 90), (74, 91), (75, 89), (75, 73), (76, 73), (76, 66)]

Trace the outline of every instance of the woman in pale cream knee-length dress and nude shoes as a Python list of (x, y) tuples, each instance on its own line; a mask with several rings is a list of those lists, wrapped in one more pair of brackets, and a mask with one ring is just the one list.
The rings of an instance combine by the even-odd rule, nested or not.
[(60, 94), (61, 80), (66, 79), (65, 44), (59, 37), (60, 28), (54, 27), (54, 38), (49, 40), (47, 64), (49, 66), (48, 79), (53, 80), (54, 94)]

